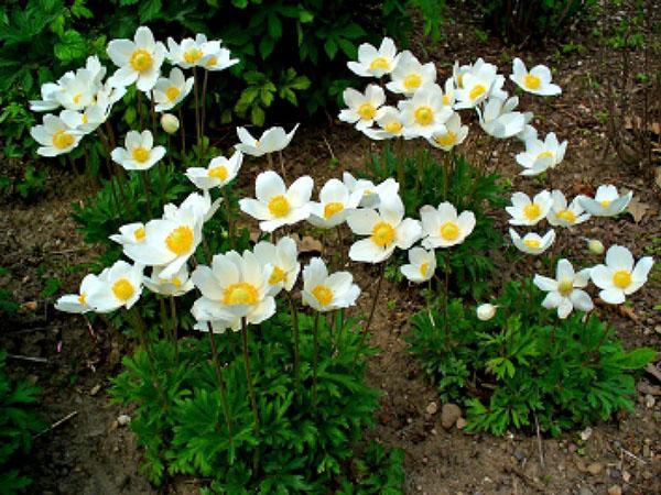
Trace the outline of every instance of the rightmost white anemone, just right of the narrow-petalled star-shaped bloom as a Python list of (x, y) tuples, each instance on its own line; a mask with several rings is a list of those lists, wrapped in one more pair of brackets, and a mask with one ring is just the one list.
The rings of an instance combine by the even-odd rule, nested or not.
[(609, 305), (620, 305), (626, 296), (644, 285), (654, 260), (644, 256), (635, 264), (631, 251), (621, 245), (611, 245), (606, 251), (606, 264), (590, 270), (593, 283), (602, 289), (599, 297)]

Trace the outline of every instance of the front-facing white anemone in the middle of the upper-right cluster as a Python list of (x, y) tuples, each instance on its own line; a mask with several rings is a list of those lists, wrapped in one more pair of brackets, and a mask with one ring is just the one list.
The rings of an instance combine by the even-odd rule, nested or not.
[(445, 132), (445, 122), (453, 114), (443, 106), (443, 91), (436, 84), (423, 86), (411, 99), (398, 103), (402, 112), (405, 138), (430, 139), (434, 133)]

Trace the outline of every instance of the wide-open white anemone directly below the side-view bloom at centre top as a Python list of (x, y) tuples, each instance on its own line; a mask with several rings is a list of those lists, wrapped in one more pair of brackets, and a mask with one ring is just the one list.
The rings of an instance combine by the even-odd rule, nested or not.
[(254, 182), (257, 199), (239, 200), (241, 211), (260, 220), (259, 228), (273, 232), (282, 226), (292, 226), (310, 217), (312, 177), (299, 177), (286, 188), (282, 177), (273, 170), (262, 172)]

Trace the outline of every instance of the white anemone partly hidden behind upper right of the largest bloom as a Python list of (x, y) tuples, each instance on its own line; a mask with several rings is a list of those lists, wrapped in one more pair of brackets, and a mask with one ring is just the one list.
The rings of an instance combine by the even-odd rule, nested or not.
[[(271, 287), (279, 286), (289, 293), (294, 287), (299, 272), (301, 272), (296, 242), (292, 238), (281, 238), (277, 244), (261, 241), (254, 245), (252, 251), (262, 266), (271, 267), (269, 285)], [(275, 296), (277, 293), (272, 295)]]

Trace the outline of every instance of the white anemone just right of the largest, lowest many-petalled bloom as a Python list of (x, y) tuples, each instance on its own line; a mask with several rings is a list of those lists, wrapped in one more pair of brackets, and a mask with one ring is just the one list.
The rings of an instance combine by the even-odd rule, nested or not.
[(328, 275), (328, 268), (321, 257), (313, 257), (303, 268), (303, 304), (322, 312), (348, 308), (356, 305), (360, 287), (354, 284), (349, 272), (335, 272)]

